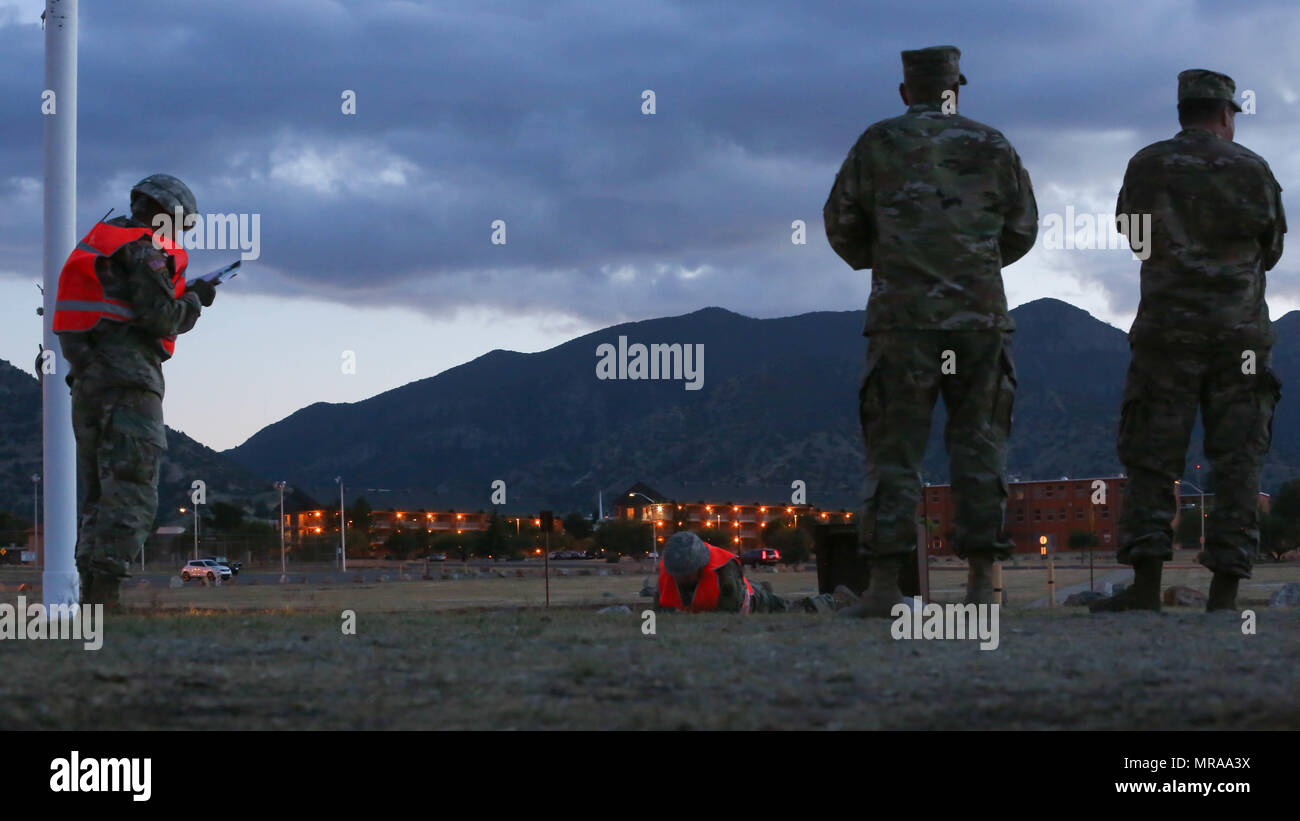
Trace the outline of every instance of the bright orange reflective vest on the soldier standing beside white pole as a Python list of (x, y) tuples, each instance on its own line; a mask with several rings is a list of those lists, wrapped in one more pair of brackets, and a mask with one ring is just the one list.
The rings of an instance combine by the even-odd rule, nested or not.
[[(109, 257), (126, 243), (152, 236), (150, 227), (122, 227), (96, 222), (83, 240), (77, 243), (77, 248), (68, 255), (64, 269), (58, 273), (58, 296), (55, 300), (55, 333), (56, 334), (83, 334), (103, 321), (130, 322), (135, 318), (135, 310), (130, 303), (129, 294), (109, 292), (100, 282), (96, 273), (99, 257)], [(172, 287), (176, 297), (185, 294), (185, 269), (190, 264), (190, 255), (185, 248), (173, 246), (164, 236), (159, 236), (162, 252), (173, 260), (176, 275), (172, 278)], [(159, 336), (159, 347), (168, 360), (176, 352), (176, 335)]]

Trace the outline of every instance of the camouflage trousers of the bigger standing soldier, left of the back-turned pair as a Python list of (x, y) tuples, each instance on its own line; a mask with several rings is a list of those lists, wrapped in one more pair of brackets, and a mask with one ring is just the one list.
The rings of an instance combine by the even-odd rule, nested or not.
[(867, 446), (867, 486), (858, 520), (868, 556), (916, 547), (920, 465), (935, 401), (948, 409), (944, 443), (952, 473), (961, 557), (1008, 557), (1006, 444), (1015, 400), (1010, 333), (883, 331), (867, 346), (858, 394)]

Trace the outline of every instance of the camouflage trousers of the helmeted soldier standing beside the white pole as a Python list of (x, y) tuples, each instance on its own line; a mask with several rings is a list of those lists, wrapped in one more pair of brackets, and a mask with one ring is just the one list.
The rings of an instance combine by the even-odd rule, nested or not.
[(79, 524), (77, 568), (126, 575), (157, 514), (166, 448), (162, 400), (152, 391), (73, 383)]

